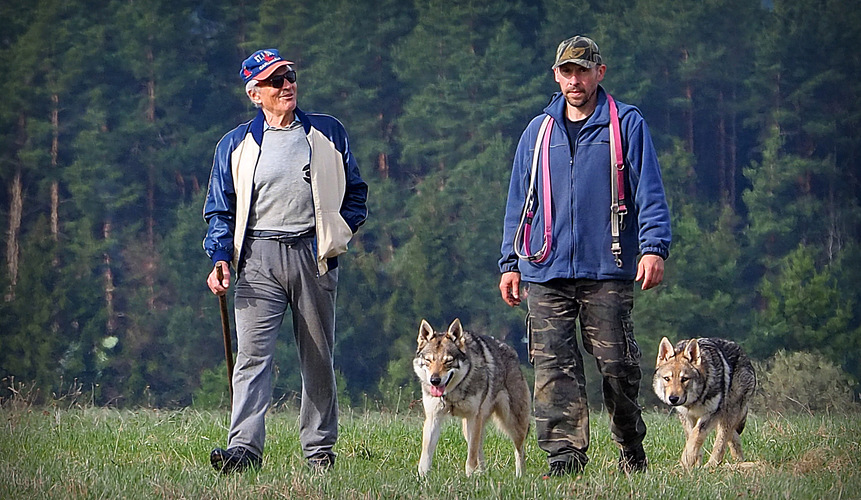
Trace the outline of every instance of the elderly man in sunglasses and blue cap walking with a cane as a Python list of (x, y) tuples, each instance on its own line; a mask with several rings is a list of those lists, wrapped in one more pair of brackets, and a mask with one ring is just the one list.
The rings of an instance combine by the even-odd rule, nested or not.
[(231, 267), (237, 276), (228, 446), (214, 449), (210, 461), (225, 474), (262, 465), (272, 357), (289, 307), (302, 373), (302, 450), (312, 469), (327, 470), (338, 437), (338, 256), (367, 217), (368, 187), (343, 125), (296, 106), (292, 62), (275, 49), (258, 50), (239, 74), (259, 111), (218, 142), (203, 209), (210, 290), (227, 292)]

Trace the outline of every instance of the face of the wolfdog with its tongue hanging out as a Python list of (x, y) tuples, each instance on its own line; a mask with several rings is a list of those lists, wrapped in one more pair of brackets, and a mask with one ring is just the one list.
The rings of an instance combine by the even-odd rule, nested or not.
[(431, 396), (441, 397), (462, 379), (468, 362), (445, 335), (437, 335), (420, 347), (413, 370)]

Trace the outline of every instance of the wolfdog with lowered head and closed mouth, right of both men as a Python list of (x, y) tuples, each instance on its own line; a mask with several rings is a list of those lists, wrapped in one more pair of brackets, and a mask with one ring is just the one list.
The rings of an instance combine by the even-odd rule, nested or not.
[(691, 339), (674, 348), (669, 339), (661, 339), (652, 388), (661, 401), (678, 410), (685, 428), (682, 467), (702, 462), (703, 441), (715, 427), (717, 434), (706, 466), (721, 463), (727, 445), (735, 460), (744, 460), (741, 432), (755, 387), (753, 365), (735, 342)]

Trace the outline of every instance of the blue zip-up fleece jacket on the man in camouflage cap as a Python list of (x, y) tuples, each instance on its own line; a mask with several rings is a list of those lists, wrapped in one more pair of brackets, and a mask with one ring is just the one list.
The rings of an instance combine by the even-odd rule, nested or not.
[[(576, 137), (573, 159), (565, 128), (565, 105), (562, 93), (554, 94), (544, 113), (533, 118), (520, 137), (505, 207), (499, 269), (503, 273), (518, 271), (522, 280), (535, 283), (554, 278), (633, 280), (637, 273), (638, 255), (656, 254), (666, 259), (670, 251), (670, 212), (649, 129), (640, 110), (616, 101), (625, 156), (628, 207), (625, 227), (620, 234), (620, 268), (610, 251), (610, 110), (607, 95), (599, 86), (598, 105)], [(517, 257), (514, 235), (529, 187), (536, 136), (545, 115), (555, 120), (550, 136), (553, 241), (547, 260), (536, 264)], [(539, 163), (539, 200), (544, 189), (540, 168)], [(541, 248), (543, 233), (543, 208), (539, 207), (530, 238), (533, 252)]]

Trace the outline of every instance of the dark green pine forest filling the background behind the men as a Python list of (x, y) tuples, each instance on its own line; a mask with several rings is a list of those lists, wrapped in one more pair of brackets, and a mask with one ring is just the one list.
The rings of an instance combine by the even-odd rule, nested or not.
[[(0, 18), (0, 397), (224, 401), (202, 207), (215, 144), (256, 113), (239, 66), (261, 48), (296, 63), (303, 111), (344, 123), (369, 185), (340, 261), (343, 404), (418, 397), (422, 319), (503, 338), (526, 369), (502, 217), (575, 34), (648, 122), (672, 212), (665, 281), (636, 294), (644, 384), (663, 336), (861, 380), (857, 0), (0, 0)], [(289, 324), (276, 363), (275, 398), (295, 397)]]

